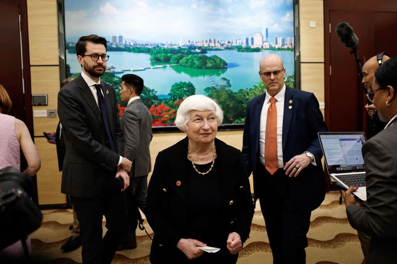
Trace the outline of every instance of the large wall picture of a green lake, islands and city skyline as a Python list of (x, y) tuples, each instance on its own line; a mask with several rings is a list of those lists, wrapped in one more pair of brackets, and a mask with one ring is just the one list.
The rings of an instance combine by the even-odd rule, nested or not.
[(259, 62), (280, 55), (294, 87), (293, 0), (65, 0), (66, 74), (81, 72), (80, 36), (108, 41), (101, 77), (118, 95), (121, 76), (144, 80), (141, 94), (153, 126), (173, 126), (184, 98), (203, 94), (224, 111), (224, 124), (244, 123), (248, 101), (265, 91)]

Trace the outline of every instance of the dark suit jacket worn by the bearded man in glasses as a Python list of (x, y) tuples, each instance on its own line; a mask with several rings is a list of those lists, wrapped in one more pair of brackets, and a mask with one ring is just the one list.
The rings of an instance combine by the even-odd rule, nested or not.
[(119, 109), (114, 88), (104, 82), (101, 84), (118, 153), (107, 147), (109, 140), (101, 112), (81, 75), (58, 94), (58, 114), (66, 147), (61, 191), (71, 196), (92, 197), (104, 190), (120, 189), (115, 179), (123, 153)]

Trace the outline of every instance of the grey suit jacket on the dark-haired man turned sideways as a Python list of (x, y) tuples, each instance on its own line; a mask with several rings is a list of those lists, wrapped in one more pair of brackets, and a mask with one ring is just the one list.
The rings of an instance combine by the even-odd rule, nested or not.
[(151, 171), (149, 144), (152, 140), (152, 117), (140, 99), (132, 101), (120, 117), (124, 132), (124, 157), (132, 161), (130, 176)]

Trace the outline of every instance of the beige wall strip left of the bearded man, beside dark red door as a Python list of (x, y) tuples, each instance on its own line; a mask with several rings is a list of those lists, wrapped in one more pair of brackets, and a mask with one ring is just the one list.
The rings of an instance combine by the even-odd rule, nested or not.
[(55, 131), (57, 118), (35, 117), (37, 110), (57, 109), (57, 95), (60, 89), (58, 15), (56, 0), (27, 0), (29, 59), (32, 94), (47, 94), (48, 106), (33, 106), (33, 127), (35, 145), (42, 160), (37, 173), (39, 204), (65, 204), (66, 196), (61, 194), (61, 173), (55, 145), (50, 145), (43, 132)]

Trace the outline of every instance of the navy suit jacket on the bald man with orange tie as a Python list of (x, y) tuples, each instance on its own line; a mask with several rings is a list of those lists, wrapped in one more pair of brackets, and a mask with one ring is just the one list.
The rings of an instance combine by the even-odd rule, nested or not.
[[(253, 172), (254, 175), (255, 199), (262, 195), (258, 177), (265, 176), (257, 173), (261, 165), (259, 130), (264, 102), (265, 93), (248, 102), (243, 135), (242, 154), (248, 174)], [(282, 124), (283, 163), (305, 151), (313, 154), (317, 163), (317, 166), (309, 164), (297, 177), (288, 179), (287, 195), (297, 210), (313, 211), (324, 200), (326, 181), (321, 162), (323, 152), (317, 133), (327, 130), (314, 94), (286, 87)]]

